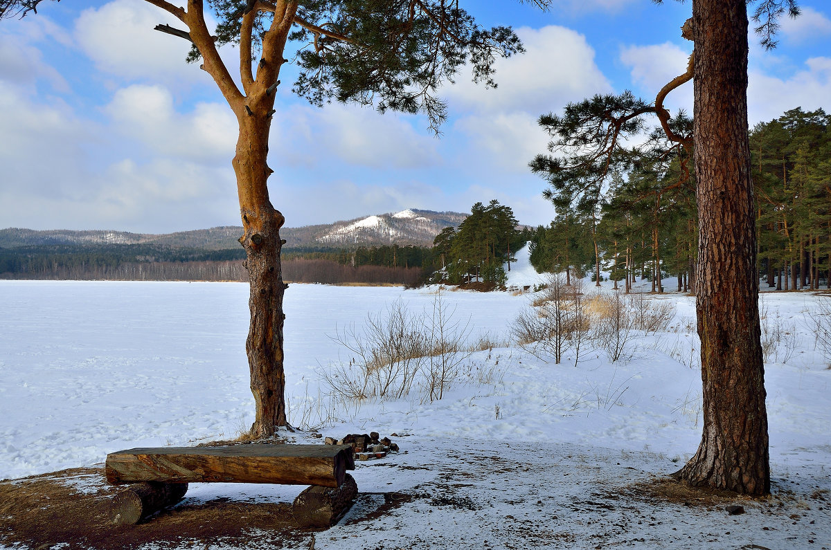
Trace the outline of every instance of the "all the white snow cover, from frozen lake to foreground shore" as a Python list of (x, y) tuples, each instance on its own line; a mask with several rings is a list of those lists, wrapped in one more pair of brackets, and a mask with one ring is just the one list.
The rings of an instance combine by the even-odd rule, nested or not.
[[(509, 285), (537, 282), (527, 258), (519, 260)], [(596, 292), (590, 282), (586, 290)], [(632, 507), (597, 504), (601, 486), (614, 493), (668, 474), (699, 443), (695, 305), (681, 294), (649, 297), (672, 302), (675, 317), (666, 331), (641, 332), (627, 361), (590, 351), (577, 365), (568, 354), (554, 365), (516, 346), (497, 347), (466, 363), (470, 373), (490, 376), (474, 384), (471, 374), (441, 400), (425, 402), (414, 391), (339, 410), (337, 418), (322, 411), (318, 372), (349, 360), (330, 336), (350, 324), (360, 329), (367, 314), (399, 299), (411, 312), (430, 312), (437, 294), (470, 322), (474, 339), (507, 340), (531, 299), (437, 287), (288, 288), (290, 422), (326, 420), (325, 435), (396, 433), (406, 451), (358, 464), (354, 476), (366, 497), (341, 524), (318, 533), (315, 548), (354, 548), (361, 514), (383, 503), (372, 494), (433, 489), (451, 504), (433, 494), (374, 520), (373, 529), (400, 538), (386, 548), (831, 548), (831, 371), (809, 317), (824, 298), (764, 297), (767, 322), (784, 327), (765, 373), (774, 494), (792, 495), (801, 518), (776, 523), (762, 517), (762, 504), (745, 503), (748, 513), (736, 518), (723, 510), (690, 515), (680, 504), (641, 518)], [(247, 297), (248, 287), (237, 283), (0, 282), (0, 479), (247, 429)], [(285, 501), (300, 489), (194, 484), (185, 502), (234, 495)], [(819, 500), (809, 499), (812, 491)], [(592, 522), (601, 516), (597, 533)], [(763, 532), (763, 524), (773, 530)], [(751, 543), (759, 546), (741, 546)]]

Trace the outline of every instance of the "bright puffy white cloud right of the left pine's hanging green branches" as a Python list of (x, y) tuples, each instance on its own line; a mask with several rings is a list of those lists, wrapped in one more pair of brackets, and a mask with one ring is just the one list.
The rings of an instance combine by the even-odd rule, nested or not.
[(486, 90), (471, 82), (467, 74), (460, 74), (456, 84), (447, 86), (443, 94), (467, 109), (528, 110), (538, 114), (611, 90), (594, 62), (593, 48), (582, 34), (557, 26), (539, 30), (522, 27), (517, 34), (526, 52), (496, 61), (499, 87)]

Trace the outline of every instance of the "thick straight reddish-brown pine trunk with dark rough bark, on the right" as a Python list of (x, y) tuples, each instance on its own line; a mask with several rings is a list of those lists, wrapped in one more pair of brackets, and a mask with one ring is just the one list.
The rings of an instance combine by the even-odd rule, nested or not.
[(675, 476), (693, 486), (770, 493), (759, 278), (747, 129), (745, 0), (694, 0), (696, 312), (704, 433)]

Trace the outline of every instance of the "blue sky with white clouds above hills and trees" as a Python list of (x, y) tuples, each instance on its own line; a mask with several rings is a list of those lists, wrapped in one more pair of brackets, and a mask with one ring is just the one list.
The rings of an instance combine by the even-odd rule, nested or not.
[[(539, 115), (570, 101), (631, 90), (654, 99), (685, 71), (680, 27), (691, 2), (461, 2), (483, 26), (510, 25), (526, 52), (496, 64), (496, 89), (470, 71), (441, 96), (436, 137), (422, 116), (310, 106), (278, 88), (269, 143), (272, 204), (288, 227), (403, 209), (469, 212), (498, 199), (520, 223), (547, 224)], [(750, 37), (750, 125), (785, 110), (831, 110), (831, 2), (800, 0), (779, 46)], [(230, 161), (234, 116), (188, 44), (153, 31), (173, 24), (141, 0), (42, 2), (0, 22), (0, 228), (168, 233), (240, 225)], [(752, 22), (751, 22), (752, 25)], [(179, 23), (181, 27), (181, 23)], [(233, 47), (221, 52), (232, 68)], [(233, 74), (232, 70), (232, 74)], [(284, 66), (281, 81), (296, 71)], [(692, 85), (667, 99), (692, 111)]]

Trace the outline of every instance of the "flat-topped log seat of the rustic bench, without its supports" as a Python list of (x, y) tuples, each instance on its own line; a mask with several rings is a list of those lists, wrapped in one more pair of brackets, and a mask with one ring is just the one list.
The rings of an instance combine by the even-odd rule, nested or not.
[(337, 489), (355, 469), (350, 445), (240, 444), (126, 449), (107, 454), (111, 484), (253, 483)]

